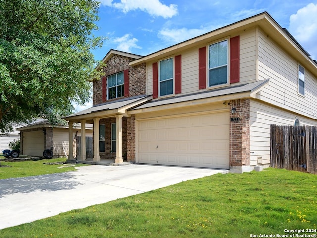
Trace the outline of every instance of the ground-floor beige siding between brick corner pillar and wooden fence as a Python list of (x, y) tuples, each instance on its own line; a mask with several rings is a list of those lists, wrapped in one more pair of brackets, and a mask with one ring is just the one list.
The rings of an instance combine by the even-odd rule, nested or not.
[(313, 119), (299, 116), (260, 101), (251, 101), (250, 165), (256, 165), (259, 156), (262, 157), (262, 164), (270, 163), (270, 125), (294, 125), (295, 119), (299, 119), (301, 125), (317, 125), (317, 122)]

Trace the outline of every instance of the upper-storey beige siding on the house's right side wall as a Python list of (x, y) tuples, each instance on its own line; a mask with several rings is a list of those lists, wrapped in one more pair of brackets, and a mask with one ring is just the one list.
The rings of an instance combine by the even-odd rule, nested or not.
[[(298, 61), (259, 31), (259, 79), (270, 79), (257, 98), (312, 117), (317, 112), (317, 78), (305, 69), (305, 97), (298, 94)], [(314, 117), (317, 119), (317, 117)]]

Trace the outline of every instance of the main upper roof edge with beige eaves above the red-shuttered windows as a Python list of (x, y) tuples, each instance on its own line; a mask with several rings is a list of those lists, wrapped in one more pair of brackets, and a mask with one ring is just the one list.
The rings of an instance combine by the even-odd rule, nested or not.
[(134, 66), (144, 62), (153, 62), (173, 54), (180, 54), (182, 51), (193, 48), (202, 47), (213, 40), (228, 36), (236, 36), (247, 28), (259, 26), (268, 37), (272, 38), (279, 46), (287, 51), (294, 59), (298, 60), (315, 76), (317, 76), (317, 63), (311, 59), (304, 48), (295, 40), (288, 31), (285, 31), (267, 12), (246, 18), (233, 24), (221, 27), (206, 34), (194, 37), (187, 41), (164, 48), (157, 52), (151, 53), (142, 58), (130, 62)]

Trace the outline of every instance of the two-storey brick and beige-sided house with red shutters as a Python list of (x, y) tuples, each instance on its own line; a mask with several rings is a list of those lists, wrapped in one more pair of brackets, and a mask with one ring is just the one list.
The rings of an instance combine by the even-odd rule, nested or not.
[(269, 166), (271, 124), (317, 125), (317, 63), (267, 12), (103, 62), (93, 107), (64, 118), (93, 124), (96, 162), (251, 171)]

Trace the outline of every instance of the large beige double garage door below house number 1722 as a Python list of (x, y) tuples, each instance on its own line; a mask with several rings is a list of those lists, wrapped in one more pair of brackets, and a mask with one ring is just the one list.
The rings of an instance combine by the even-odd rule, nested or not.
[(138, 163), (229, 169), (229, 112), (138, 121)]

